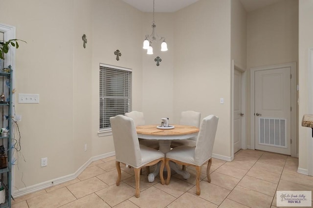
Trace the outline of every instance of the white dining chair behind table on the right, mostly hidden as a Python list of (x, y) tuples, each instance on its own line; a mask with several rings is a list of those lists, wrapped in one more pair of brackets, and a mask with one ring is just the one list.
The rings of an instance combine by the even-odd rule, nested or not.
[[(182, 111), (180, 114), (180, 125), (192, 125), (199, 128), (201, 122), (201, 113), (193, 111), (193, 110), (187, 110)], [(178, 146), (196, 146), (196, 140), (197, 137), (192, 137), (186, 140), (175, 140), (172, 141), (171, 147), (175, 148)]]

